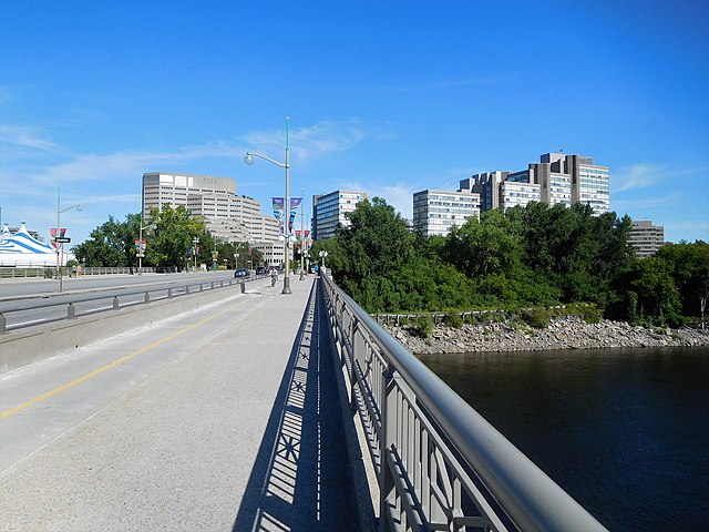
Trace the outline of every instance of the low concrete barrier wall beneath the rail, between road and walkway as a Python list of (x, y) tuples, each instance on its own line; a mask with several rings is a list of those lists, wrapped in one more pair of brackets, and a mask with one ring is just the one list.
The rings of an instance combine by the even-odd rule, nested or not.
[(153, 321), (235, 297), (242, 294), (240, 286), (235, 284), (150, 304), (132, 305), (120, 310), (107, 310), (79, 316), (75, 319), (11, 330), (0, 336), (0, 375), (61, 351), (76, 349)]

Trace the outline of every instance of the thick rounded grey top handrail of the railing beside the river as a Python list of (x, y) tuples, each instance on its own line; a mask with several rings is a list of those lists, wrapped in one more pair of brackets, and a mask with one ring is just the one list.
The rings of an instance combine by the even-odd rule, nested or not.
[(605, 531), (606, 529), (451, 390), (423, 362), (327, 276), (321, 277), (381, 349), (434, 423), (472, 468), (506, 515), (524, 531)]

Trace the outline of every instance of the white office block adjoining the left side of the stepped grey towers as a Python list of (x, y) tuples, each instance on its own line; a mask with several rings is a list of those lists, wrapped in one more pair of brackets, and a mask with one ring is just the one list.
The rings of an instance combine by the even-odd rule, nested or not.
[(413, 195), (413, 231), (424, 236), (445, 236), (472, 216), (480, 216), (477, 193), (421, 191)]

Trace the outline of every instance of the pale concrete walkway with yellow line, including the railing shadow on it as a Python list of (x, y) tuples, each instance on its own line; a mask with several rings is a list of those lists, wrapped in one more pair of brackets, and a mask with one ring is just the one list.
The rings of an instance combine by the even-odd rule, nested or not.
[(291, 288), (0, 377), (0, 530), (357, 530), (317, 284)]

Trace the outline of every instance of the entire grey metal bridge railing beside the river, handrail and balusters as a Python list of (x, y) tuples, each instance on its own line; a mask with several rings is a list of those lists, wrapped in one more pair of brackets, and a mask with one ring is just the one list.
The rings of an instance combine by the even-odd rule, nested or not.
[(378, 479), (379, 530), (606, 530), (322, 276), (328, 316)]

